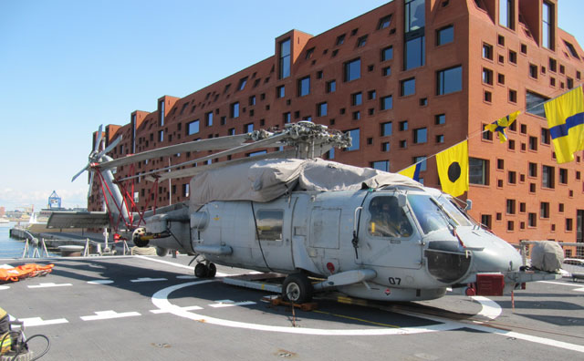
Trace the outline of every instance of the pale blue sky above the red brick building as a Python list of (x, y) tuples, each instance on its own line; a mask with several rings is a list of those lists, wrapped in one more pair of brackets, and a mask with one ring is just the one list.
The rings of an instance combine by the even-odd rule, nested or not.
[[(290, 29), (318, 35), (387, 1), (0, 2), (0, 206), (86, 206), (91, 132), (270, 57)], [(294, 4), (294, 5), (290, 5)], [(581, 0), (559, 26), (584, 46)]]

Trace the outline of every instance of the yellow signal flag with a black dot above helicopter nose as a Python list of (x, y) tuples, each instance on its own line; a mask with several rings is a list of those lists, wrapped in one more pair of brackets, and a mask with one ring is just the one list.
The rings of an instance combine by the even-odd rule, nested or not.
[(468, 140), (436, 154), (442, 190), (453, 197), (468, 191)]

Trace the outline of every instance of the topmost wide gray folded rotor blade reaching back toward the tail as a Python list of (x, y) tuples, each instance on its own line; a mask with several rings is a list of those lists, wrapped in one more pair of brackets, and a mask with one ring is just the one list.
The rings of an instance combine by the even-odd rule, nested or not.
[(136, 163), (142, 160), (150, 160), (157, 157), (168, 157), (187, 151), (225, 150), (238, 147), (248, 139), (251, 139), (250, 133), (239, 134), (236, 136), (193, 140), (187, 143), (159, 148), (157, 150), (146, 150), (139, 154), (126, 156), (117, 160), (105, 161), (99, 164), (99, 168), (115, 168), (125, 164)]

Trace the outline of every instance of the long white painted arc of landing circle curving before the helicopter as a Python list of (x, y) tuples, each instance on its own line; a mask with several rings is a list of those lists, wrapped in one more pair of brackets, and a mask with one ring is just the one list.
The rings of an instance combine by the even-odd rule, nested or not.
[(206, 324), (212, 325), (224, 325), (228, 327), (237, 328), (247, 328), (250, 330), (258, 331), (271, 331), (271, 332), (284, 332), (289, 334), (303, 334), (303, 335), (411, 335), (411, 334), (422, 334), (428, 332), (437, 331), (450, 331), (460, 328), (461, 325), (454, 324), (451, 322), (443, 322), (438, 325), (420, 326), (420, 327), (403, 327), (403, 328), (375, 328), (375, 329), (322, 329), (322, 328), (297, 328), (297, 327), (285, 327), (285, 326), (275, 326), (275, 325), (260, 325), (260, 324), (250, 324), (245, 322), (224, 320), (221, 318), (211, 317), (207, 315), (194, 314), (189, 311), (185, 311), (182, 307), (175, 304), (171, 304), (168, 300), (169, 294), (172, 292), (180, 290), (184, 287), (189, 287), (198, 284), (207, 284), (214, 282), (216, 280), (205, 280), (197, 282), (188, 282), (185, 284), (175, 284), (170, 287), (163, 288), (157, 293), (152, 295), (152, 304), (160, 308), (161, 310), (168, 312), (172, 315), (177, 315), (179, 317), (184, 317), (191, 319), (193, 321), (204, 322)]

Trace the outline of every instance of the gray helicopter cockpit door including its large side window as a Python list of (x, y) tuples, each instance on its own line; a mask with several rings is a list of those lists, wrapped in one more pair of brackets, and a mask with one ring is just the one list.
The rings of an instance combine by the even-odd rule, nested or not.
[(370, 198), (361, 211), (359, 257), (363, 264), (422, 267), (420, 236), (393, 195)]

